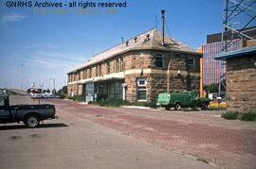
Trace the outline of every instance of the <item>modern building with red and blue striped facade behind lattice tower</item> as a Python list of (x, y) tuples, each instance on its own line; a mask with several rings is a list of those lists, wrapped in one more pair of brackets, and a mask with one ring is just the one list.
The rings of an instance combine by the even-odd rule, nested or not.
[[(249, 29), (249, 31), (247, 31)], [(247, 35), (256, 38), (256, 27), (248, 27), (245, 29)], [(255, 45), (255, 41), (240, 40), (236, 34), (232, 35), (230, 32), (225, 35), (226, 40), (233, 39), (225, 52), (241, 49), (242, 47)], [(226, 42), (222, 42), (222, 33), (210, 34), (207, 36), (207, 44), (202, 45), (203, 53), (203, 85), (208, 86), (212, 83), (218, 84), (220, 77), (226, 72), (226, 60), (216, 60), (214, 57), (222, 53)]]

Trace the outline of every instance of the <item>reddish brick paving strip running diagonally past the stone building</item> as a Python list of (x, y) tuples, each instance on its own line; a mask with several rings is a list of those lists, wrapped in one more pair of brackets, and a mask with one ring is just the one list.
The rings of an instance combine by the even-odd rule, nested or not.
[[(14, 100), (19, 102), (17, 97)], [(256, 168), (256, 123), (222, 119), (223, 111), (103, 108), (60, 99), (41, 102), (54, 104), (61, 119), (71, 124), (79, 120), (100, 125), (134, 142), (209, 162), (207, 167)]]

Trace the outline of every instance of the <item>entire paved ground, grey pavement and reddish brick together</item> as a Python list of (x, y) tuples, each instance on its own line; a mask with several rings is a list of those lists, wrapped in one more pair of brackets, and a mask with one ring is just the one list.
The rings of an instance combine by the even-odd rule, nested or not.
[[(12, 96), (12, 103), (31, 103)], [(59, 120), (0, 126), (0, 168), (255, 168), (256, 123), (219, 112), (102, 108), (51, 99)], [(207, 163), (209, 162), (209, 163)]]

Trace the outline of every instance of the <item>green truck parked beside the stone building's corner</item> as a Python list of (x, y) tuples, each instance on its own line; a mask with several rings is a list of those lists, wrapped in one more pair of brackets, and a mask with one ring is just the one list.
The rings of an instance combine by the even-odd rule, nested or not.
[(181, 108), (195, 108), (199, 107), (206, 110), (210, 104), (209, 98), (201, 98), (194, 92), (180, 92), (180, 93), (159, 93), (157, 98), (157, 105), (164, 107), (165, 110), (181, 110)]

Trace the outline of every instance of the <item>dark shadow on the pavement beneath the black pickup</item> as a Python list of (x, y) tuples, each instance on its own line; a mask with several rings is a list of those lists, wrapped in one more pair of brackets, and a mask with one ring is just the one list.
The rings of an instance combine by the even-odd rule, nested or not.
[[(68, 127), (68, 126), (63, 123), (57, 123), (57, 124), (42, 124), (36, 128), (46, 128), (46, 127)], [(0, 130), (28, 129), (28, 128), (29, 127), (27, 127), (25, 125), (15, 125), (15, 126), (3, 126), (3, 127), (0, 127)]]

